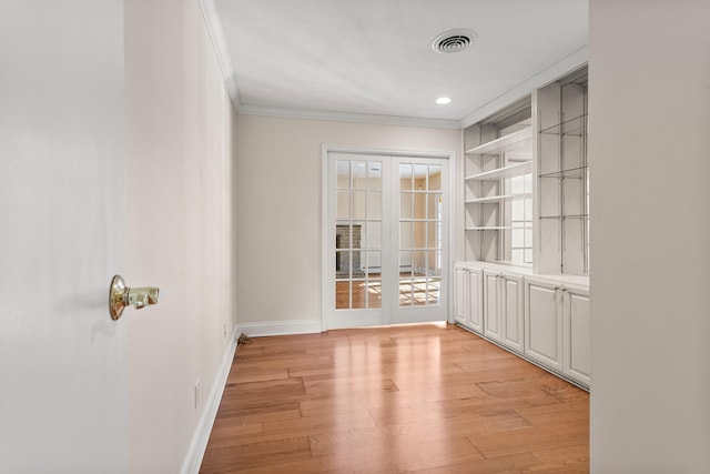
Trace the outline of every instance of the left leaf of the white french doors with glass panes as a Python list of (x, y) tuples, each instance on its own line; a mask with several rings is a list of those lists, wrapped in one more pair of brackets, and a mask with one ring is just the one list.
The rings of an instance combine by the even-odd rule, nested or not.
[(326, 327), (379, 325), (392, 293), (388, 157), (328, 153)]

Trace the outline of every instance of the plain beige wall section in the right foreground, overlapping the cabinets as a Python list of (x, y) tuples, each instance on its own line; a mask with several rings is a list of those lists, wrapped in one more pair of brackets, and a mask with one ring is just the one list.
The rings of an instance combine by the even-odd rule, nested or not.
[(710, 472), (708, 19), (590, 1), (595, 473)]

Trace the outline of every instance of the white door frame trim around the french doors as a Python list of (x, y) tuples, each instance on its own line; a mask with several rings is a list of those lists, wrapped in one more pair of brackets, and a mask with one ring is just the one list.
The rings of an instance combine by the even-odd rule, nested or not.
[[(445, 204), (448, 212), (448, 223), (447, 223), (447, 252), (446, 252), (446, 271), (442, 274), (442, 285), (446, 289), (446, 294), (443, 295), (445, 297), (445, 314), (447, 315), (447, 321), (449, 323), (453, 322), (452, 315), (452, 297), (453, 297), (453, 289), (450, 282), (453, 282), (452, 273), (454, 271), (454, 259), (456, 250), (456, 214), (455, 214), (455, 195), (457, 192), (456, 188), (456, 153), (453, 151), (430, 151), (430, 150), (405, 150), (405, 149), (381, 149), (381, 148), (368, 148), (368, 147), (357, 147), (357, 145), (342, 145), (342, 144), (332, 144), (324, 143), (321, 148), (321, 331), (327, 331), (328, 329), (338, 329), (339, 326), (331, 325), (328, 326), (327, 312), (329, 299), (328, 294), (328, 153), (352, 153), (352, 154), (368, 154), (368, 155), (382, 155), (385, 157), (395, 157), (395, 158), (436, 158), (436, 159), (445, 159), (448, 160), (448, 203)], [(384, 307), (383, 307), (384, 310)]]

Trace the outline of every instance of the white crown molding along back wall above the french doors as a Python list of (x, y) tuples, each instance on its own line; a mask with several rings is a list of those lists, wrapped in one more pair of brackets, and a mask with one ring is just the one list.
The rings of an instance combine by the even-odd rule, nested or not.
[(458, 120), (419, 119), (416, 117), (379, 115), (376, 113), (335, 112), (331, 110), (288, 109), (240, 103), (239, 113), (245, 115), (283, 117), (288, 119), (325, 120), (381, 125), (423, 127), (427, 129), (460, 130)]

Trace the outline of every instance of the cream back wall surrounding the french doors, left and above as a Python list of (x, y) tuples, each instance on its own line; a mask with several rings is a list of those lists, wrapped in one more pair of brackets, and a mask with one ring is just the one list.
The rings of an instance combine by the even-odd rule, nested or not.
[(324, 143), (462, 150), (458, 130), (237, 115), (236, 304), (247, 334), (320, 329)]

